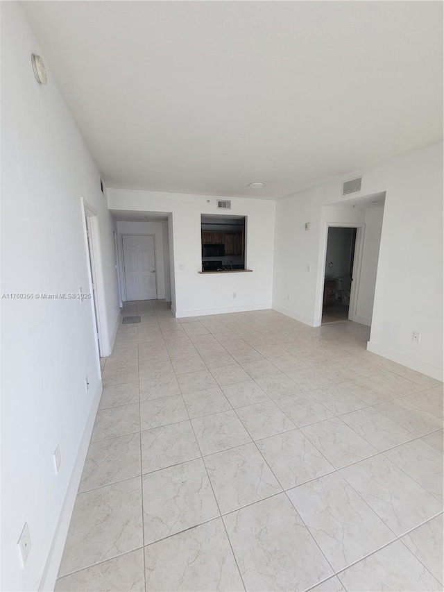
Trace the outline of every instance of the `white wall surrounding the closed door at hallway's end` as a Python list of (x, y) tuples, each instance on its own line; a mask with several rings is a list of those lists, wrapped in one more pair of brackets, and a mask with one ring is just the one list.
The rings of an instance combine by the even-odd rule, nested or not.
[[(169, 250), (165, 253), (165, 246), (168, 244), (168, 222), (128, 222), (118, 221), (117, 232), (119, 233), (119, 250), (120, 261), (119, 267), (121, 269), (122, 294), (126, 294), (126, 286), (123, 274), (123, 250), (122, 250), (122, 235), (154, 235), (155, 244), (155, 269), (157, 281), (157, 298), (167, 301), (171, 300), (171, 281), (169, 269)], [(167, 237), (165, 237), (167, 232)], [(168, 286), (168, 293), (167, 293)], [(169, 298), (167, 298), (169, 296)]]

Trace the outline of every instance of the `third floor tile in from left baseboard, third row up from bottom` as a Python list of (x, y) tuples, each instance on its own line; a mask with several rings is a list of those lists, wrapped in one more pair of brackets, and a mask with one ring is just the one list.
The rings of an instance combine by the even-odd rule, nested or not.
[(251, 441), (234, 411), (216, 413), (191, 420), (203, 455), (218, 453)]

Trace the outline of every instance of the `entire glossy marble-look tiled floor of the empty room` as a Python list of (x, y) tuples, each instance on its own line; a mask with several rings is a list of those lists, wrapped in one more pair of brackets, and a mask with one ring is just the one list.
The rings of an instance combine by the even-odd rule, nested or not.
[(443, 588), (443, 387), (368, 328), (126, 305), (58, 591)]

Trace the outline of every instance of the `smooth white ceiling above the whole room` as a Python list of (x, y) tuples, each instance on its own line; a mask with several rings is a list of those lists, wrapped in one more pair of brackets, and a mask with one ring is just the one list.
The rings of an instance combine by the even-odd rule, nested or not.
[(279, 198), (442, 137), (441, 2), (22, 6), (108, 186)]

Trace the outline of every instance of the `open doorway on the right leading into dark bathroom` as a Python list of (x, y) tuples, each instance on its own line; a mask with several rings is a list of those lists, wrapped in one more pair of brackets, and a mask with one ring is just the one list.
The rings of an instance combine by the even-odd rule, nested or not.
[[(327, 225), (321, 324), (353, 321), (364, 225)], [(358, 240), (359, 239), (359, 240)]]

